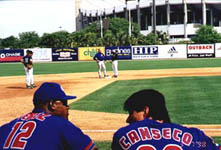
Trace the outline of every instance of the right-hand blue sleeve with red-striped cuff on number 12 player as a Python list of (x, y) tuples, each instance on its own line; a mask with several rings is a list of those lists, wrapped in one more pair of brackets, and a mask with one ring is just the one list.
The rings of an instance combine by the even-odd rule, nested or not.
[(89, 136), (85, 135), (78, 127), (69, 121), (65, 122), (62, 132), (64, 141), (67, 142), (67, 145), (70, 145), (71, 150), (90, 150), (94, 147), (94, 143)]

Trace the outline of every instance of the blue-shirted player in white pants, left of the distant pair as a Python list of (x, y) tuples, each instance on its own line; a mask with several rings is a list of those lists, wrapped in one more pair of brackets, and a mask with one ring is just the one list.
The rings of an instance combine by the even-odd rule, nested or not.
[(107, 72), (106, 72), (106, 66), (104, 64), (105, 56), (101, 52), (100, 49), (98, 49), (98, 53), (95, 54), (93, 59), (97, 62), (99, 78), (101, 79), (101, 69), (104, 72), (104, 78), (108, 78), (108, 75), (107, 75)]

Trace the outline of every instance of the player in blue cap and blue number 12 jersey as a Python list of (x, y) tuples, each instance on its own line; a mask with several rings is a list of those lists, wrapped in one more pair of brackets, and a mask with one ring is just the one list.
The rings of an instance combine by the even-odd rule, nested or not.
[(0, 127), (1, 150), (97, 150), (93, 141), (68, 121), (68, 96), (57, 83), (35, 92), (34, 109)]

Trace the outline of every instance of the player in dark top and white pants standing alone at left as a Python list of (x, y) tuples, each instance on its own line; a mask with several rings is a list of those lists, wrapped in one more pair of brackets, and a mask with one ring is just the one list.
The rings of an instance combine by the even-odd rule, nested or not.
[(23, 63), (25, 69), (26, 87), (28, 89), (32, 89), (36, 87), (36, 85), (34, 84), (34, 75), (33, 75), (33, 60), (32, 60), (33, 52), (27, 50), (26, 53), (27, 55), (21, 59), (21, 62)]

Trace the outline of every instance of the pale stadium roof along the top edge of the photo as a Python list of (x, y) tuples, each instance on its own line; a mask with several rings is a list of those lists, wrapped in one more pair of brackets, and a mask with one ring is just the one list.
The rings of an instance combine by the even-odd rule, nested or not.
[[(165, 5), (166, 1), (169, 1), (170, 4), (182, 4), (185, 0), (156, 0), (156, 5)], [(139, 7), (145, 8), (149, 7), (153, 0), (140, 0)], [(202, 3), (202, 0), (186, 0), (188, 4), (196, 4)], [(221, 0), (205, 0), (206, 3), (221, 3)], [(138, 4), (138, 0), (128, 0), (127, 9), (136, 9), (136, 5)], [(80, 10), (87, 16), (90, 14), (92, 16), (96, 16), (105, 13), (112, 14), (113, 10), (115, 12), (123, 12), (126, 7), (125, 0), (81, 0)]]

